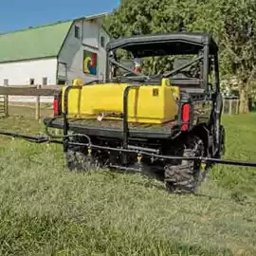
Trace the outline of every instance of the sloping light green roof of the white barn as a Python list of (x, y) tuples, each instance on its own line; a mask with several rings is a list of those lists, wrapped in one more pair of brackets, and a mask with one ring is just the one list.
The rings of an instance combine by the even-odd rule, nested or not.
[(0, 63), (58, 56), (73, 21), (0, 34)]

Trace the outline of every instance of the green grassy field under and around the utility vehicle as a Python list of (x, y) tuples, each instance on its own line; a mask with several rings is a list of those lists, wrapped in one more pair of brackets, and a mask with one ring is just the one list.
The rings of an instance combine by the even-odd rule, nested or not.
[[(227, 155), (256, 160), (256, 115), (225, 117)], [(33, 119), (0, 130), (44, 132)], [(62, 148), (0, 137), (1, 255), (256, 255), (256, 172), (216, 166), (197, 195), (138, 174), (68, 173)]]

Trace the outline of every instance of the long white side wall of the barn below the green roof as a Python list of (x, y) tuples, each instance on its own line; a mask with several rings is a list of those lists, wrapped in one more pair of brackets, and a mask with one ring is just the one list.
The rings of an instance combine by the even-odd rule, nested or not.
[(29, 60), (0, 64), (0, 85), (5, 80), (9, 85), (27, 85), (30, 79), (35, 84), (42, 84), (43, 78), (47, 78), (47, 84), (56, 84), (57, 58)]

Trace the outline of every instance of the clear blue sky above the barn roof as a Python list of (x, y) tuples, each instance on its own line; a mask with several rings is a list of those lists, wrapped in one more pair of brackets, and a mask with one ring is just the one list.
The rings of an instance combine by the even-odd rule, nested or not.
[(0, 33), (111, 12), (118, 6), (119, 0), (2, 0)]

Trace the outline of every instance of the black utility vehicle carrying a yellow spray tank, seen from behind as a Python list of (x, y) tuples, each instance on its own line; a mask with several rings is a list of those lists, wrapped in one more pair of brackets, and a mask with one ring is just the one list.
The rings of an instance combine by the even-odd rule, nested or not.
[[(171, 192), (195, 192), (211, 166), (202, 158), (218, 159), (225, 148), (218, 46), (210, 34), (173, 32), (106, 48), (103, 81), (64, 86), (54, 118), (44, 119), (64, 131), (67, 167), (154, 174)], [(166, 68), (138, 72), (124, 56)]]

